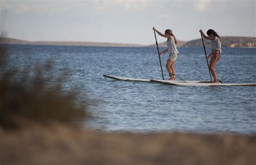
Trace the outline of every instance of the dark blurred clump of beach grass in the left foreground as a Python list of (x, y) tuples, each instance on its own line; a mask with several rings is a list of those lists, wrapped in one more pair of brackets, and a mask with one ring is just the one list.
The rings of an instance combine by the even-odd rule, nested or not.
[[(0, 126), (15, 129), (21, 123), (77, 124), (86, 119), (86, 105), (77, 105), (74, 92), (63, 92), (66, 73), (45, 77), (52, 72), (53, 63), (38, 64), (32, 74), (28, 70), (6, 67), (8, 49), (0, 45)], [(17, 76), (19, 75), (19, 76)], [(48, 74), (52, 75), (52, 74)]]

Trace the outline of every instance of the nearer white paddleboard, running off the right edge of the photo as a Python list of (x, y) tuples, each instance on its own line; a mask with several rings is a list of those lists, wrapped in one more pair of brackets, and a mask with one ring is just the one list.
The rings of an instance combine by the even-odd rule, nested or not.
[(167, 85), (180, 85), (180, 86), (200, 86), (200, 87), (208, 87), (208, 86), (256, 86), (256, 83), (211, 83), (211, 82), (176, 82), (176, 81), (168, 81), (168, 80), (150, 80), (155, 83), (167, 84)]

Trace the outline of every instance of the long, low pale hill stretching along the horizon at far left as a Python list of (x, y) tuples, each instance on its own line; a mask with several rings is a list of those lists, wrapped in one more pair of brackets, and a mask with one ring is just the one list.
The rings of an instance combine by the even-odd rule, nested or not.
[(72, 42), (72, 41), (24, 41), (0, 37), (0, 44), (26, 44), (26, 45), (70, 45), (70, 46), (113, 46), (113, 47), (143, 47), (139, 44), (117, 44), (108, 42)]

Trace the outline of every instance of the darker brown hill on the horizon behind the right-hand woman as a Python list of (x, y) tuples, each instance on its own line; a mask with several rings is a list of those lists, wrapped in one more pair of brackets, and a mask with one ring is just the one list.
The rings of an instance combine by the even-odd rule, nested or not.
[[(220, 37), (222, 47), (256, 47), (256, 37)], [(211, 46), (211, 41), (204, 39), (206, 47)], [(186, 42), (183, 47), (203, 47), (202, 39)]]

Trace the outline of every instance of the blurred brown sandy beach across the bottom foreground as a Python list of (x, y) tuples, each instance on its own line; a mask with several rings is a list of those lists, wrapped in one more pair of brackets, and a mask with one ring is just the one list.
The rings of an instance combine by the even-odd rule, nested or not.
[(1, 164), (254, 164), (256, 136), (105, 133), (55, 125), (0, 132)]

